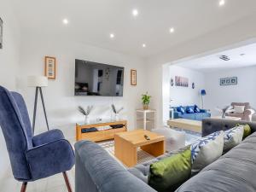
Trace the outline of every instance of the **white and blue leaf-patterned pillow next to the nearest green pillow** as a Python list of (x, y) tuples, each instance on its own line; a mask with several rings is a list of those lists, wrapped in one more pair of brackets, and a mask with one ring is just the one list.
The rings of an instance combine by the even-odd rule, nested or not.
[(190, 146), (192, 174), (200, 172), (223, 154), (224, 131), (214, 132)]

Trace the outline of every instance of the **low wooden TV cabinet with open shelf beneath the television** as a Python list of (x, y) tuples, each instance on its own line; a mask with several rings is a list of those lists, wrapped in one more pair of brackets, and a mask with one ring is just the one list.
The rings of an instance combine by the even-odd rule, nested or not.
[[(117, 129), (109, 129), (102, 131), (93, 131), (93, 132), (85, 132), (83, 133), (83, 129), (89, 129), (92, 127), (99, 128), (103, 126), (109, 125), (124, 125), (122, 128)], [(95, 122), (90, 124), (76, 124), (76, 140), (90, 140), (92, 142), (101, 142), (104, 140), (113, 139), (114, 134), (119, 132), (127, 131), (127, 121), (119, 120), (119, 121), (104, 121), (104, 122)]]

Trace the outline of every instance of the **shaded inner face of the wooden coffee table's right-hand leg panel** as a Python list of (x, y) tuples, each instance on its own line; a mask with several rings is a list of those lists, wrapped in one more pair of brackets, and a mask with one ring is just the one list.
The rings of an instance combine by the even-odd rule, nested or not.
[(155, 157), (165, 154), (166, 151), (165, 141), (144, 145), (141, 148), (143, 149), (143, 151), (146, 151), (148, 154), (152, 154)]

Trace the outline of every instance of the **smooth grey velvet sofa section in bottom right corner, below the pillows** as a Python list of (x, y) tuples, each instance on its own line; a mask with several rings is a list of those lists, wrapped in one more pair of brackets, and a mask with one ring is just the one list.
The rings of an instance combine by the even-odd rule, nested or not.
[(177, 192), (256, 191), (256, 133), (177, 189)]

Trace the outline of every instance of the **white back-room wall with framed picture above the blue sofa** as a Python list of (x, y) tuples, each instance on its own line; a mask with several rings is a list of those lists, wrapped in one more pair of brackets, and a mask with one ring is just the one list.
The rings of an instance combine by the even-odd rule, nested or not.
[[(174, 85), (170, 88), (170, 98), (172, 106), (201, 106), (200, 90), (205, 89), (204, 74), (191, 70), (189, 68), (170, 66), (170, 79), (173, 79)], [(189, 79), (189, 87), (179, 87), (175, 85), (175, 76), (181, 76)], [(195, 83), (195, 89), (192, 89), (192, 83)], [(170, 81), (169, 81), (170, 84)]]

